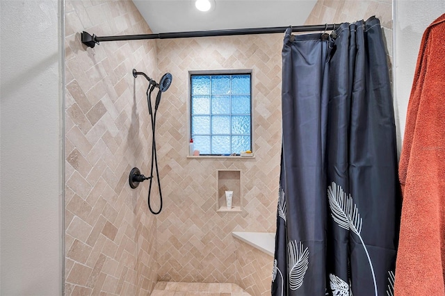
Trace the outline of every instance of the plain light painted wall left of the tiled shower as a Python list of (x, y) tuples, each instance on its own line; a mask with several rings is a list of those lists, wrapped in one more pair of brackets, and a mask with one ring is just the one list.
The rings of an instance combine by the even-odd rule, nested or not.
[(0, 1), (1, 295), (62, 292), (59, 10)]

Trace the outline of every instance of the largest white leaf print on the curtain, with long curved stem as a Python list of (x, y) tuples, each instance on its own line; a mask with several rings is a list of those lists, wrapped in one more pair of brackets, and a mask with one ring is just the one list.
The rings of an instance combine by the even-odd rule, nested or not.
[(354, 204), (353, 197), (350, 195), (347, 196), (346, 193), (343, 192), (341, 186), (337, 186), (335, 182), (332, 182), (331, 186), (327, 187), (327, 197), (329, 199), (329, 206), (334, 222), (337, 222), (339, 227), (343, 229), (350, 229), (353, 231), (353, 233), (358, 236), (360, 242), (362, 242), (373, 275), (375, 296), (378, 296), (377, 283), (375, 282), (371, 257), (369, 257), (368, 249), (366, 249), (362, 236), (360, 236), (360, 232), (362, 231), (362, 217), (360, 217), (357, 206)]

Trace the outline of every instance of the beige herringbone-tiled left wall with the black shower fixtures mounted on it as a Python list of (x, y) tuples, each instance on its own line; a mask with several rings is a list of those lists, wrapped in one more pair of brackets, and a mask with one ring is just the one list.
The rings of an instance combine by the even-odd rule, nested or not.
[(147, 186), (131, 190), (127, 181), (151, 153), (147, 81), (131, 69), (157, 77), (156, 47), (86, 50), (83, 30), (151, 33), (132, 1), (65, 0), (65, 295), (147, 295), (157, 277), (156, 219)]

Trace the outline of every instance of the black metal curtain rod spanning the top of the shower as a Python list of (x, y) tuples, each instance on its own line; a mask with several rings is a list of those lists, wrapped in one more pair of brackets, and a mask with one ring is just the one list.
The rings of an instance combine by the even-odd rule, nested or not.
[[(321, 24), (307, 26), (292, 26), (292, 32), (309, 32), (309, 31), (332, 31), (339, 24)], [(270, 28), (236, 28), (229, 30), (213, 30), (213, 31), (189, 31), (176, 33), (154, 33), (154, 34), (138, 34), (138, 35), (117, 35), (117, 36), (96, 36), (95, 34), (83, 31), (81, 33), (82, 43), (87, 47), (95, 47), (101, 41), (121, 41), (121, 40), (149, 40), (149, 39), (173, 39), (173, 38), (194, 38), (194, 37), (211, 37), (211, 36), (232, 36), (232, 35), (253, 35), (253, 34), (271, 34), (284, 33), (289, 26), (276, 26)]]

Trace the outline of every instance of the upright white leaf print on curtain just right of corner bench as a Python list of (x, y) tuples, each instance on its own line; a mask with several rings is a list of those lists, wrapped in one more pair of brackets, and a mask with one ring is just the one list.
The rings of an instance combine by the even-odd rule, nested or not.
[(289, 288), (297, 290), (303, 284), (309, 266), (309, 249), (303, 250), (302, 242), (290, 240), (287, 253), (289, 254)]

